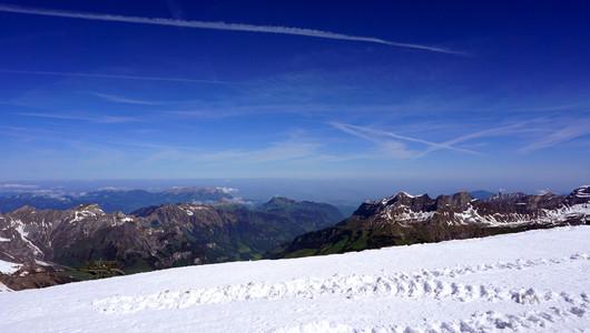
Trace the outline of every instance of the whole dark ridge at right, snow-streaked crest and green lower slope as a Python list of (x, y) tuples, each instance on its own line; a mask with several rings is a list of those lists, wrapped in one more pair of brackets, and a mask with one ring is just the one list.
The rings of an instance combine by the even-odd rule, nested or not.
[(402, 192), (367, 201), (335, 226), (299, 235), (265, 258), (342, 253), (584, 223), (590, 223), (590, 186), (568, 196), (499, 193), (483, 200), (468, 192), (436, 199)]

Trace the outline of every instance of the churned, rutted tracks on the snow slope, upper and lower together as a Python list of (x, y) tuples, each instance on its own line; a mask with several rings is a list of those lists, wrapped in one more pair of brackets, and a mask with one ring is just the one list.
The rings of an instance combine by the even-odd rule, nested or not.
[[(486, 265), (471, 265), (445, 268), (439, 270), (422, 270), (414, 273), (399, 273), (392, 276), (351, 275), (331, 279), (296, 279), (282, 283), (254, 283), (242, 285), (226, 285), (223, 287), (186, 290), (135, 296), (115, 296), (94, 302), (96, 310), (108, 314), (135, 313), (149, 310), (184, 309), (199, 304), (218, 304), (230, 302), (246, 302), (255, 300), (277, 299), (322, 299), (324, 295), (338, 295), (346, 299), (357, 297), (433, 297), (452, 300), (454, 302), (472, 302), (482, 300), (495, 303), (512, 301), (527, 306), (527, 312), (503, 315), (494, 311), (474, 313), (470, 320), (459, 323), (430, 323), (425, 327), (383, 326), (366, 327), (360, 331), (373, 332), (444, 332), (444, 331), (482, 331), (494, 329), (543, 329), (555, 321), (563, 321), (570, 316), (586, 317), (590, 311), (590, 297), (587, 293), (570, 294), (551, 290), (538, 291), (529, 289), (503, 289), (493, 285), (473, 285), (461, 282), (446, 282), (443, 278), (458, 278), (465, 274), (476, 274), (485, 271), (523, 270), (533, 266), (560, 265), (573, 261), (588, 261), (590, 254), (577, 253), (564, 259), (519, 260), (513, 263), (496, 263)], [(547, 306), (541, 306), (544, 304)], [(302, 326), (287, 326), (276, 332), (334, 331), (357, 332), (338, 323), (309, 323)], [(456, 330), (455, 330), (456, 329)]]

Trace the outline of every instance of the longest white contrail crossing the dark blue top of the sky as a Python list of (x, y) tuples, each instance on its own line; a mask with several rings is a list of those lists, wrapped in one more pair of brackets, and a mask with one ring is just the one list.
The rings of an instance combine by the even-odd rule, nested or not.
[(373, 43), (380, 43), (380, 44), (386, 44), (386, 46), (400, 47), (400, 48), (410, 48), (410, 49), (419, 49), (419, 50), (426, 50), (426, 51), (433, 51), (433, 52), (466, 56), (466, 53), (464, 52), (453, 51), (453, 50), (443, 49), (443, 48), (413, 44), (413, 43), (402, 43), (402, 42), (387, 41), (387, 40), (373, 38), (373, 37), (348, 36), (348, 34), (343, 34), (343, 33), (334, 33), (330, 31), (303, 29), (303, 28), (288, 28), (288, 27), (276, 27), (276, 26), (254, 26), (254, 24), (225, 23), (225, 22), (185, 21), (185, 20), (171, 20), (171, 19), (159, 19), (159, 18), (153, 19), (153, 18), (139, 18), (139, 17), (124, 17), (124, 16), (112, 16), (112, 14), (99, 14), (99, 13), (97, 14), (97, 13), (88, 13), (88, 12), (73, 12), (73, 11), (63, 11), (63, 10), (26, 8), (26, 7), (2, 4), (2, 3), (0, 3), (0, 11), (33, 14), (33, 16), (97, 20), (97, 21), (116, 21), (116, 22), (127, 22), (127, 23), (174, 26), (174, 27), (197, 28), (197, 29), (296, 34), (296, 36), (307, 36), (307, 37), (326, 38), (326, 39), (364, 41), (364, 42), (373, 42)]

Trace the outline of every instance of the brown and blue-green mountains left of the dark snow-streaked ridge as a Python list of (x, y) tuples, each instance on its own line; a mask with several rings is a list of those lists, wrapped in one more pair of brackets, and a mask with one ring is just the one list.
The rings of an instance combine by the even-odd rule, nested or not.
[(18, 290), (73, 281), (75, 275), (60, 271), (98, 259), (116, 260), (126, 272), (259, 259), (342, 218), (328, 204), (285, 198), (274, 198), (258, 210), (185, 202), (129, 215), (106, 213), (96, 203), (66, 211), (22, 206), (0, 214), (0, 260), (22, 265), (14, 274), (0, 274), (0, 282)]

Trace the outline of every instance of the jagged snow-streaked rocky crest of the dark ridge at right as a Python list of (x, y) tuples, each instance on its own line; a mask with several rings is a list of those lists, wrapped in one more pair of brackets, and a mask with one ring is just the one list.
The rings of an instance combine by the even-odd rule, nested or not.
[(528, 223), (561, 224), (590, 221), (590, 186), (581, 186), (568, 196), (545, 193), (498, 193), (489, 199), (473, 199), (468, 192), (453, 196), (427, 194), (413, 196), (405, 192), (381, 201), (365, 201), (354, 215), (389, 223), (446, 223), (485, 226), (515, 226)]

